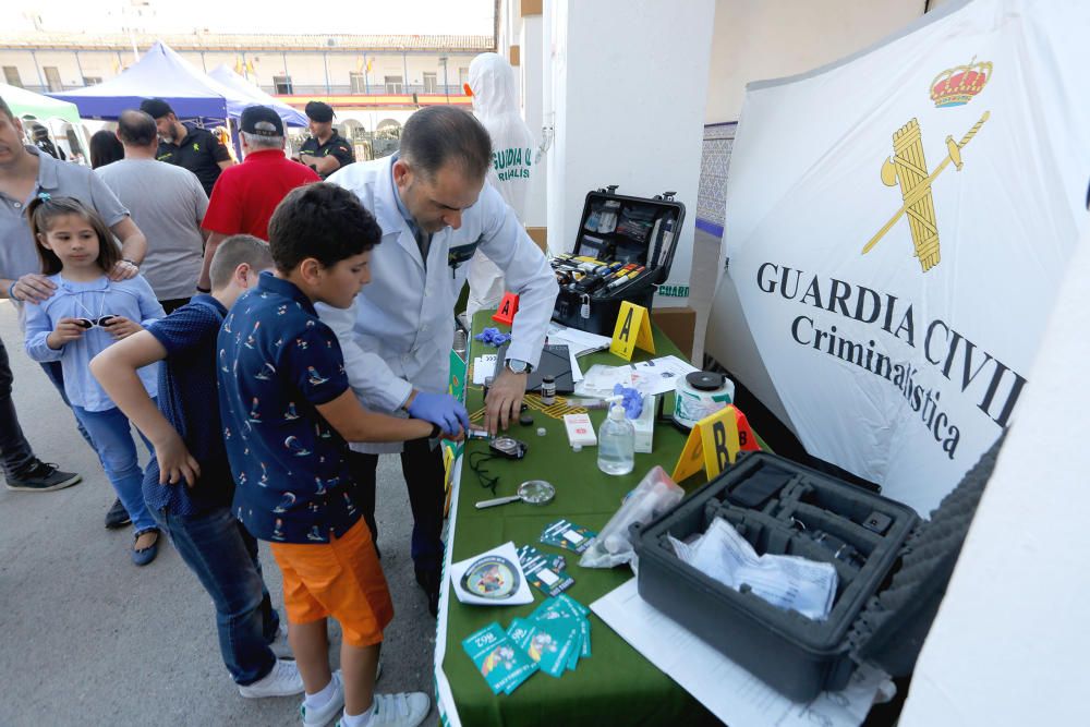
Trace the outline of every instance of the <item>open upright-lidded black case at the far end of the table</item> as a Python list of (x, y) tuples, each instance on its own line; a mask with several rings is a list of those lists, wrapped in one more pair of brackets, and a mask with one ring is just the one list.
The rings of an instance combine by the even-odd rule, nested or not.
[[(631, 259), (647, 268), (649, 275), (640, 280), (633, 280), (631, 284), (618, 288), (617, 291), (603, 293), (595, 291), (590, 296), (590, 316), (584, 318), (581, 315), (583, 304), (582, 295), (567, 291), (564, 287), (557, 295), (556, 306), (553, 308), (553, 320), (565, 326), (579, 328), (580, 330), (611, 336), (617, 324), (617, 314), (620, 312), (620, 304), (630, 301), (637, 305), (642, 305), (649, 311), (655, 298), (655, 290), (666, 282), (670, 275), (670, 266), (674, 264), (674, 253), (677, 250), (678, 237), (681, 233), (681, 226), (685, 223), (685, 205), (674, 199), (674, 192), (664, 192), (654, 197), (632, 197), (617, 194), (617, 185), (610, 185), (602, 190), (589, 192), (583, 202), (583, 214), (579, 219), (579, 231), (576, 235), (576, 244), (572, 249), (573, 255), (586, 255), (597, 257), (603, 255), (602, 246), (593, 242), (595, 239), (605, 242), (605, 256), (609, 263), (616, 259), (615, 254), (609, 251), (623, 251), (626, 262)], [(663, 219), (662, 227), (657, 235), (649, 233), (647, 240), (641, 242), (626, 235), (622, 231), (602, 233), (586, 229), (586, 221), (590, 219), (592, 210), (607, 201), (619, 203), (619, 211), (626, 209), (635, 210), (638, 214), (654, 214), (655, 219)], [(618, 215), (619, 217), (620, 215)], [(665, 240), (666, 219), (673, 218), (673, 234), (669, 241)], [(600, 258), (601, 259), (601, 258)], [(651, 265), (647, 265), (647, 262)], [(659, 262), (661, 260), (661, 262)]]

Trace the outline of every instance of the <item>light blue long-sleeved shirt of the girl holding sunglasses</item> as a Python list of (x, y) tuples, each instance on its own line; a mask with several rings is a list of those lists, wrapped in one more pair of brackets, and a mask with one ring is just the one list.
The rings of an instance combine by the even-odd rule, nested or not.
[[(152, 287), (142, 276), (114, 282), (105, 275), (90, 282), (65, 280), (60, 274), (49, 276), (57, 286), (52, 298), (26, 310), (26, 353), (35, 361), (60, 361), (64, 372), (64, 393), (74, 407), (87, 411), (106, 411), (114, 403), (90, 374), (90, 360), (114, 342), (113, 337), (99, 326), (86, 331), (80, 340), (53, 350), (46, 337), (53, 332), (61, 318), (90, 318), (124, 316), (147, 326), (162, 318), (166, 313), (155, 299)], [(159, 364), (137, 369), (141, 381), (150, 397), (158, 393)]]

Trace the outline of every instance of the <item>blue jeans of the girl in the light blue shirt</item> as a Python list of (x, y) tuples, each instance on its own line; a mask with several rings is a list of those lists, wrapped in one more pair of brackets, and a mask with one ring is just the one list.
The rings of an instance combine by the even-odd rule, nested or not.
[[(135, 533), (157, 528), (155, 518), (144, 505), (144, 471), (141, 470), (136, 456), (136, 443), (129, 429), (129, 417), (114, 407), (101, 412), (89, 412), (83, 407), (72, 407), (75, 417), (87, 429), (90, 440), (98, 453), (98, 461), (106, 470), (106, 476), (113, 485), (114, 492), (125, 506), (125, 511), (133, 521)], [(152, 443), (140, 435), (147, 445), (152, 457), (155, 451)]]

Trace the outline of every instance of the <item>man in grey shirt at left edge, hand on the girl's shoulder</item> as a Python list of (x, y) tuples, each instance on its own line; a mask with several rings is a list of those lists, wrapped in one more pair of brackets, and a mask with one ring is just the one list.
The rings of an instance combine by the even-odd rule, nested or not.
[[(129, 218), (129, 210), (94, 172), (58, 161), (23, 144), (23, 124), (0, 98), (0, 298), (16, 302), (21, 326), (22, 306), (37, 305), (56, 290), (56, 286), (41, 275), (41, 263), (25, 215), (26, 205), (43, 193), (75, 197), (102, 216), (121, 240), (121, 253), (125, 258), (113, 269), (112, 277), (136, 275), (147, 249), (147, 241)], [(68, 403), (60, 362), (41, 364), (41, 367)], [(80, 475), (61, 472), (34, 456), (19, 426), (11, 384), (8, 353), (0, 341), (0, 459), (8, 488), (47, 492), (80, 482)], [(86, 433), (83, 434), (89, 444)]]

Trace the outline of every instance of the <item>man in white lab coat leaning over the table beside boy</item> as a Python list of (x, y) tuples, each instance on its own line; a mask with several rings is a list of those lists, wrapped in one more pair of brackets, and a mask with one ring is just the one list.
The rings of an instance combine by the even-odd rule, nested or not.
[[(484, 425), (491, 433), (518, 419), (558, 290), (541, 250), (485, 183), (491, 165), (484, 126), (467, 111), (435, 106), (410, 117), (399, 154), (351, 165), (328, 180), (355, 192), (383, 228), (383, 242), (372, 251), (372, 282), (353, 307), (319, 310), (341, 342), (349, 381), (367, 407), (426, 419), (450, 434), (469, 424), (464, 407), (445, 393), (465, 263), (477, 249), (484, 251), (520, 295), (508, 359), (485, 402)], [(435, 614), (443, 561), (441, 452), (426, 440), (405, 443), (403, 449), (353, 449), (360, 452), (352, 458), (353, 474), (373, 536), (377, 455), (401, 451), (416, 581)]]

